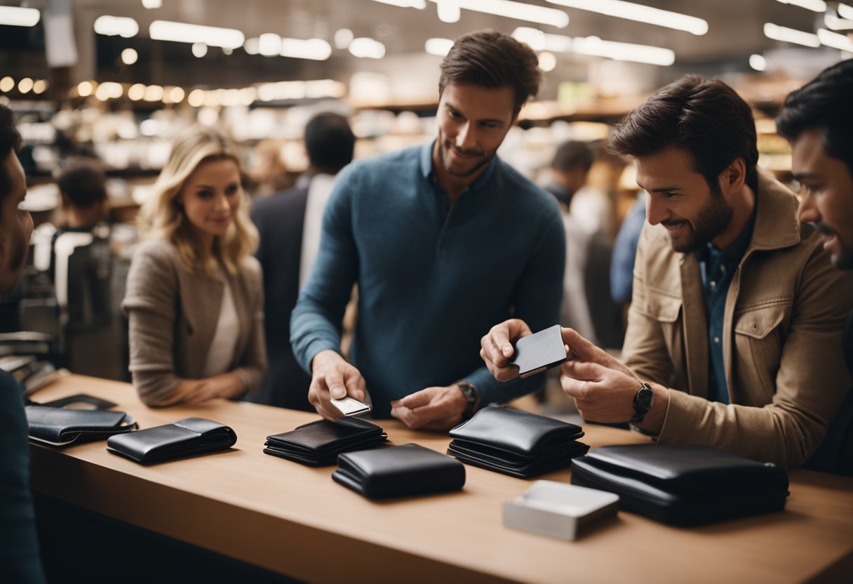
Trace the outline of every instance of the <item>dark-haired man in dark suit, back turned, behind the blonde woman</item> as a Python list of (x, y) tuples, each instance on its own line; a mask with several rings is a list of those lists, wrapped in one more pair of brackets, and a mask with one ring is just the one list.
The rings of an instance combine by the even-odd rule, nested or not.
[(316, 114), (305, 126), (309, 167), (299, 184), (252, 205), (264, 269), (264, 334), (269, 365), (247, 400), (311, 412), (310, 376), (293, 356), (290, 315), (320, 245), (322, 212), (335, 175), (352, 161), (356, 137), (340, 114)]

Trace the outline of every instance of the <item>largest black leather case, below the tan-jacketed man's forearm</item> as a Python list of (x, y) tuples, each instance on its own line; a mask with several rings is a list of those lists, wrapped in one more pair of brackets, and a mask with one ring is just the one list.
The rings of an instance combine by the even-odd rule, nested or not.
[(619, 508), (671, 525), (714, 523), (785, 508), (788, 476), (705, 446), (595, 448), (572, 463), (572, 484), (619, 495)]

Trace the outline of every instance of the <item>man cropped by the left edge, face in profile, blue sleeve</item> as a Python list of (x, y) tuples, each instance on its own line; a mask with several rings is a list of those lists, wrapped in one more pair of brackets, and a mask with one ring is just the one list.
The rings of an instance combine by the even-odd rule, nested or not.
[[(32, 235), (30, 213), (18, 208), (26, 178), (15, 151), (20, 134), (12, 112), (0, 105), (0, 294), (20, 278)], [(24, 391), (0, 371), (0, 566), (4, 581), (43, 582), (30, 493), (30, 455)]]

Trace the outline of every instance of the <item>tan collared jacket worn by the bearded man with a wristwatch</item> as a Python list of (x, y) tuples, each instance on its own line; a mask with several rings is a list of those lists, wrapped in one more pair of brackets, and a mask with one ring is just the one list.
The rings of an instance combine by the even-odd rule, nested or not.
[(833, 268), (797, 200), (759, 170), (752, 239), (726, 297), (722, 351), (731, 405), (708, 401), (705, 299), (695, 254), (661, 225), (637, 249), (623, 359), (669, 389), (659, 441), (708, 444), (786, 467), (820, 446), (850, 377), (838, 351), (853, 272)]

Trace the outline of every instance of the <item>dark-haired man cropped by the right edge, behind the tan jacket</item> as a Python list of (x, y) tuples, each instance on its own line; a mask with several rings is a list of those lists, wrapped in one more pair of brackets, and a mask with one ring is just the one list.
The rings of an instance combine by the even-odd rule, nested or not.
[[(776, 128), (791, 142), (802, 189), (799, 219), (815, 225), (833, 264), (853, 270), (853, 61), (841, 61), (786, 97)], [(848, 288), (853, 295), (853, 288)], [(844, 360), (853, 375), (853, 311), (844, 323)], [(827, 347), (828, 349), (829, 347)], [(818, 460), (819, 459), (819, 460)], [(853, 391), (813, 462), (853, 476)], [(821, 468), (819, 467), (819, 468)]]

